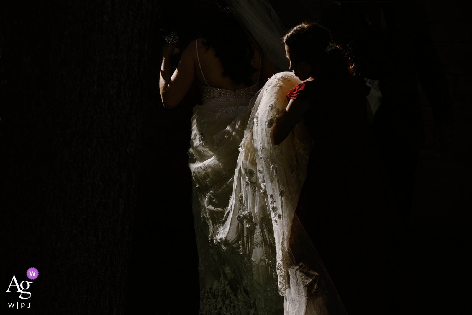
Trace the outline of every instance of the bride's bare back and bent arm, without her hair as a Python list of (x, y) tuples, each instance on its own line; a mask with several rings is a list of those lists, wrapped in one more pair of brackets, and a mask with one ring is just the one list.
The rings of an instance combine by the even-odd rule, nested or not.
[[(166, 62), (169, 62), (168, 60), (171, 55), (167, 54), (166, 56), (165, 53), (167, 51), (163, 50), (164, 60), (161, 67), (160, 95), (164, 107), (172, 108), (182, 101), (195, 79), (200, 85), (223, 90), (236, 91), (248, 87), (244, 84), (236, 84), (228, 76), (223, 76), (225, 70), (221, 65), (221, 60), (216, 57), (216, 52), (213, 47), (210, 46), (207, 51), (207, 46), (203, 45), (202, 41), (204, 41), (204, 38), (199, 38), (196, 40), (196, 43), (192, 41), (188, 44), (170, 80), (166, 80), (166, 77), (170, 75), (169, 64), (166, 64)], [(275, 73), (273, 70), (274, 67), (262, 56), (261, 51), (258, 50), (255, 45), (252, 44), (252, 46), (254, 56), (251, 60), (251, 65), (257, 69), (252, 75), (253, 84), (257, 83), (258, 77), (260, 77), (262, 83), (265, 83), (267, 78)]]

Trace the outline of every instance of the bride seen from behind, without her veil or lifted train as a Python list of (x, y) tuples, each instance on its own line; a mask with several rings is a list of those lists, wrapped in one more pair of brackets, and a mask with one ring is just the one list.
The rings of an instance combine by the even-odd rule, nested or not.
[[(231, 14), (215, 11), (210, 18), (204, 37), (188, 44), (173, 73), (169, 59), (176, 45), (163, 47), (160, 73), (166, 108), (176, 106), (194, 82), (202, 92), (202, 104), (194, 107), (188, 150), (200, 314), (281, 314), (277, 277), (266, 265), (266, 252), (275, 252), (275, 247), (261, 240), (264, 230), (253, 224), (248, 236), (243, 220), (236, 221), (231, 239), (223, 232), (232, 220), (228, 209), (234, 202), (233, 177), (249, 102), (276, 71)], [(273, 239), (273, 233), (264, 237)]]

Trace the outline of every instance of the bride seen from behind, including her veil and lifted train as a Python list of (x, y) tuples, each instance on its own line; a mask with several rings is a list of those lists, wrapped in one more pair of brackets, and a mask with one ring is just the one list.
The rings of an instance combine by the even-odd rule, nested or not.
[[(303, 122), (277, 148), (268, 138), (285, 94), (300, 83), (290, 72), (274, 75), (288, 68), (283, 26), (266, 0), (227, 3), (215, 5), (173, 73), (175, 45), (163, 47), (160, 72), (164, 107), (176, 106), (194, 82), (202, 93), (188, 150), (200, 314), (344, 314), (329, 276), (320, 280), (322, 263), (316, 271), (295, 264), (287, 244), (292, 220), (303, 230), (294, 211), (311, 139)], [(304, 242), (307, 259), (319, 261)]]

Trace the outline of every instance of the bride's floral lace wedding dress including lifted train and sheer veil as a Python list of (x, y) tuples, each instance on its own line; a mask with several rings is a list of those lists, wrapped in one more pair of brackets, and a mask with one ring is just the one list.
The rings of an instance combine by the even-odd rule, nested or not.
[[(264, 57), (287, 69), (281, 23), (270, 4), (227, 3)], [(271, 127), (287, 107), (286, 94), (299, 83), (291, 72), (281, 72), (262, 88), (256, 83), (233, 92), (199, 86), (202, 104), (194, 108), (188, 150), (199, 314), (346, 314), (295, 216), (312, 148), (303, 121), (280, 145), (270, 144)], [(294, 228), (298, 236), (289, 242)]]

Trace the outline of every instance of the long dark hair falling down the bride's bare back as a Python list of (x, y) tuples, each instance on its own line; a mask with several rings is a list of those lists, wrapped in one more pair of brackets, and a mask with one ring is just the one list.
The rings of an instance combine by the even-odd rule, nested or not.
[(253, 85), (251, 77), (257, 69), (251, 66), (254, 50), (247, 40), (247, 34), (232, 13), (221, 12), (216, 6), (212, 9), (203, 25), (203, 45), (207, 46), (207, 50), (211, 46), (216, 51), (225, 70), (223, 76), (237, 84)]

